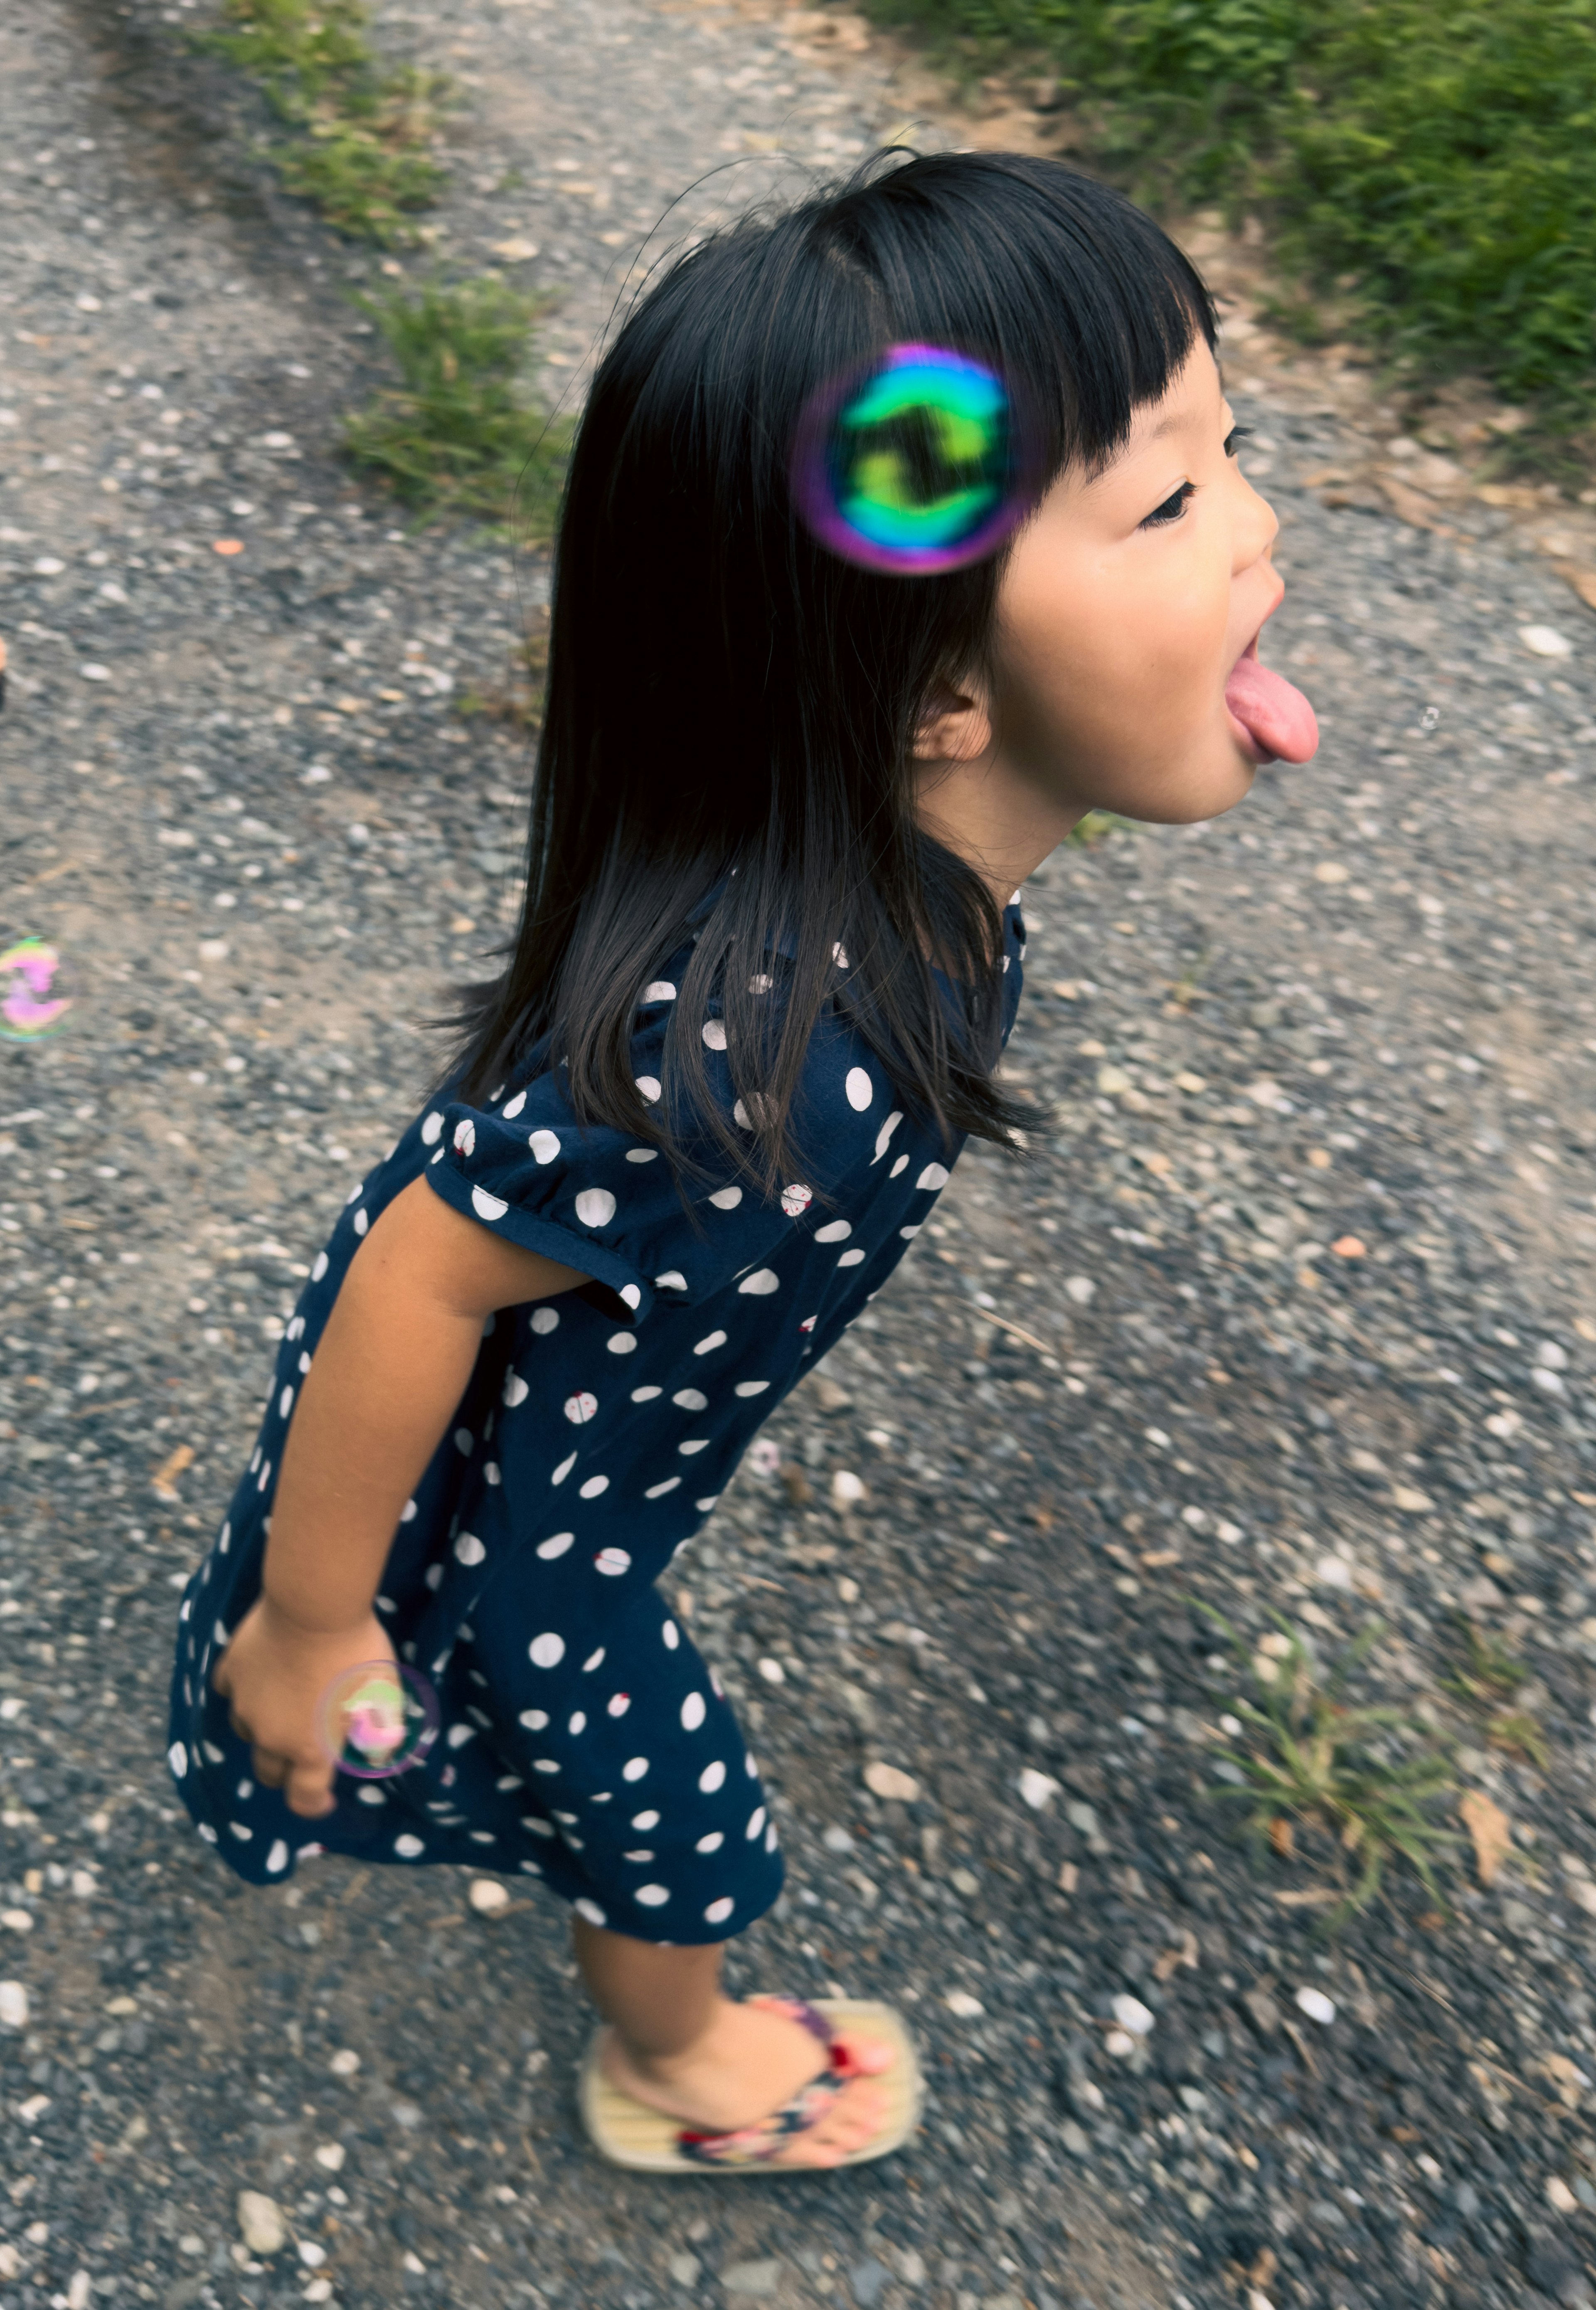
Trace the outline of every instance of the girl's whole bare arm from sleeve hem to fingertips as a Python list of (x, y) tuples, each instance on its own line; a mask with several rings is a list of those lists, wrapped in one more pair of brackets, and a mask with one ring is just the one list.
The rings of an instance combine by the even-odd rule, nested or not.
[(393, 1659), (372, 1610), (400, 1511), (467, 1388), (497, 1307), (587, 1277), (460, 1217), (425, 1178), (393, 1199), (349, 1264), (293, 1409), (261, 1601), (215, 1670), (254, 1776), (298, 1813), (333, 1809), (316, 1702), (335, 1675)]

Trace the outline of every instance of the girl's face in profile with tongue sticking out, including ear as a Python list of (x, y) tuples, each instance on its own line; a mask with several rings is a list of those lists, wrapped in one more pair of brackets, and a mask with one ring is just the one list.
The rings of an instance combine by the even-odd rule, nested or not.
[(1261, 762), (1307, 760), (1312, 707), (1254, 654), (1284, 596), (1277, 529), (1199, 340), (1120, 455), (1062, 474), (1021, 529), (991, 679), (922, 730), (926, 825), (993, 885), (1023, 880), (1086, 811), (1215, 818)]

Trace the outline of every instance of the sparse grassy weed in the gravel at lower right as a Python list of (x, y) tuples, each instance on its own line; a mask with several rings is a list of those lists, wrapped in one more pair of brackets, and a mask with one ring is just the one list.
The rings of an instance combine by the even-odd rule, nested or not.
[(1293, 1830), (1303, 1827), (1333, 1841), (1337, 1873), (1347, 1864), (1358, 1869), (1356, 1885), (1326, 1917), (1328, 1933), (1374, 1901), (1393, 1860), (1409, 1862), (1441, 1908), (1432, 1855), (1455, 1839), (1430, 1820), (1427, 1806), (1453, 1788), (1450, 1763), (1402, 1709), (1351, 1707), (1344, 1700), (1347, 1684), (1384, 1633), (1379, 1624), (1321, 1672), (1289, 1622), (1277, 1619), (1273, 1654), (1252, 1654), (1224, 1615), (1203, 1603), (1199, 1610), (1224, 1631), (1256, 1696), (1236, 1702), (1256, 1744), (1220, 1751), (1240, 1779), (1210, 1788), (1210, 1795), (1250, 1806), (1247, 1832), (1259, 1846), (1293, 1855)]

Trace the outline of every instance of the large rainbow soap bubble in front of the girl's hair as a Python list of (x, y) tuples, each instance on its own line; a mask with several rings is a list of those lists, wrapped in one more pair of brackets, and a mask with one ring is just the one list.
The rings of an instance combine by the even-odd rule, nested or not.
[(792, 483), (822, 545), (901, 578), (979, 561), (1028, 511), (1002, 379), (938, 344), (887, 346), (822, 388), (799, 425)]

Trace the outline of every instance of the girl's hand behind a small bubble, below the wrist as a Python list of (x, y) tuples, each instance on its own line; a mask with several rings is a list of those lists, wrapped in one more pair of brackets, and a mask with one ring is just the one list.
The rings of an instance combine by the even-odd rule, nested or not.
[(346, 1668), (393, 1656), (374, 1612), (330, 1633), (296, 1626), (261, 1596), (238, 1622), (210, 1682), (231, 1702), (233, 1732), (252, 1742), (256, 1781), (282, 1788), (291, 1813), (316, 1820), (335, 1809), (335, 1767), (316, 1730), (328, 1684)]

